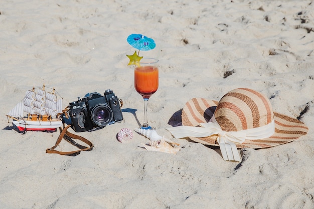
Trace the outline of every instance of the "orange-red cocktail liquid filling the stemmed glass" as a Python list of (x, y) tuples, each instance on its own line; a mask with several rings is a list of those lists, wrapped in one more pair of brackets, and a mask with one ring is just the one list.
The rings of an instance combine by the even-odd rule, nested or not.
[(144, 99), (148, 99), (157, 91), (158, 80), (156, 66), (140, 66), (134, 70), (134, 87)]

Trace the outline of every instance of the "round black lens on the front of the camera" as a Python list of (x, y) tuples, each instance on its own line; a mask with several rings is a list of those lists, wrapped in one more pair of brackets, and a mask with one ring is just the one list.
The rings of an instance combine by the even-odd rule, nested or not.
[(90, 111), (92, 122), (98, 126), (105, 126), (112, 120), (112, 110), (108, 105), (95, 105)]

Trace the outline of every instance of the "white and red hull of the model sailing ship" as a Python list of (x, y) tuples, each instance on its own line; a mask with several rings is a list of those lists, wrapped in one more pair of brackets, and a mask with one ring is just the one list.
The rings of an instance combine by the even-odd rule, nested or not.
[(12, 123), (20, 131), (55, 131), (62, 125), (62, 120), (51, 121), (31, 121), (31, 120), (14, 120)]

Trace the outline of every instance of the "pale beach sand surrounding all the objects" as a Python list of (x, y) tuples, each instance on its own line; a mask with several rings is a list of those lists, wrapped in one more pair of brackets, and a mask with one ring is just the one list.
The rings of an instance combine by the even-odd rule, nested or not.
[[(2, 0), (0, 13), (0, 208), (314, 208), (313, 1)], [(143, 121), (127, 66), (132, 33), (156, 42), (140, 55), (160, 60), (148, 105), (160, 135), (172, 139), (165, 128), (180, 123), (191, 98), (219, 100), (242, 87), (264, 93), (274, 111), (300, 116), (308, 134), (242, 149), (241, 163), (185, 139), (173, 139), (182, 147), (176, 155), (139, 147), (148, 140), (135, 132), (119, 143), (120, 129)], [(112, 89), (124, 120), (79, 133), (92, 151), (47, 154), (59, 132), (23, 135), (6, 117), (43, 84), (64, 107)]]

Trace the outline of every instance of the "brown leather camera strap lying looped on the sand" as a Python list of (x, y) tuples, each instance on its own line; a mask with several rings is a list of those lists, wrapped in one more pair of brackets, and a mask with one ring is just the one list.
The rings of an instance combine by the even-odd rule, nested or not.
[[(55, 154), (61, 154), (61, 155), (76, 156), (76, 155), (80, 154), (81, 151), (90, 151), (90, 150), (93, 149), (93, 143), (92, 142), (90, 142), (89, 140), (85, 139), (82, 136), (78, 136), (78, 135), (75, 135), (73, 133), (70, 133), (67, 130), (69, 127), (71, 127), (71, 125), (67, 125), (63, 130), (62, 130), (62, 128), (60, 128), (60, 130), (62, 130), (62, 131), (61, 131), (61, 133), (60, 133), (60, 135), (58, 137), (56, 145), (51, 147), (50, 149), (46, 149), (46, 153), (55, 153)], [(79, 148), (79, 150), (69, 151), (69, 152), (62, 152), (62, 151), (55, 150), (55, 148), (60, 144), (60, 142), (62, 141), (63, 138), (67, 142), (69, 142), (72, 145), (74, 145), (77, 148)], [(88, 147), (82, 146), (82, 145), (76, 143), (73, 139), (78, 139), (78, 140), (83, 141), (84, 143), (86, 143), (88, 145)]]

